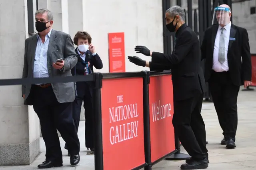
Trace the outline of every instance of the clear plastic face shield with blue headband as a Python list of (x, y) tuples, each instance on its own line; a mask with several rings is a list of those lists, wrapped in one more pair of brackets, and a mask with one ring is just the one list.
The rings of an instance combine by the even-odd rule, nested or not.
[(231, 14), (231, 11), (229, 10), (229, 8), (225, 8), (225, 7), (214, 8), (212, 25), (214, 24), (227, 25), (230, 20), (230, 14)]

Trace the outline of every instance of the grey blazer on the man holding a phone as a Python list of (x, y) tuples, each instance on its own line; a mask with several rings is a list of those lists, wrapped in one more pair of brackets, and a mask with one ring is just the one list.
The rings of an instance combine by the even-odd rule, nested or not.
[[(24, 67), (22, 78), (32, 78), (34, 69), (34, 58), (36, 55), (37, 45), (36, 34), (25, 40)], [(77, 63), (77, 54), (74, 44), (69, 34), (52, 29), (50, 42), (47, 51), (47, 65), (49, 77), (65, 77), (72, 76), (71, 69)], [(52, 67), (57, 59), (63, 58), (64, 68), (62, 71)], [(60, 103), (73, 102), (75, 99), (74, 82), (52, 83), (54, 94)], [(25, 94), (24, 104), (33, 105), (32, 98), (29, 97), (31, 85), (22, 85), (22, 96)]]

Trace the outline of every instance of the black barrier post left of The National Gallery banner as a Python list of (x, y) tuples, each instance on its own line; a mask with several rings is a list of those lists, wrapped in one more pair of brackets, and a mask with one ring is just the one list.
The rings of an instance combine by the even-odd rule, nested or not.
[(94, 74), (93, 108), (94, 108), (94, 166), (96, 170), (103, 170), (103, 146), (102, 146), (102, 117), (101, 94), (102, 74)]

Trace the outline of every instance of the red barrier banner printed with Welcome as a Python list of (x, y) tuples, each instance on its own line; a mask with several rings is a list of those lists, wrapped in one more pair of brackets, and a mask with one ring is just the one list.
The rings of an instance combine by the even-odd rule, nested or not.
[(152, 76), (149, 84), (151, 162), (175, 150), (172, 76)]

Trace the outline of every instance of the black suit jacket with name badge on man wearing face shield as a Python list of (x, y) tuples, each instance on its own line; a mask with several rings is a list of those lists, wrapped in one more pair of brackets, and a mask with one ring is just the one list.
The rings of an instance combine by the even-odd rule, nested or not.
[[(205, 59), (205, 80), (210, 79), (212, 73), (213, 50), (218, 24), (208, 28), (204, 32), (201, 46), (202, 59)], [(228, 43), (228, 67), (232, 83), (236, 86), (244, 84), (244, 80), (252, 80), (252, 62), (247, 30), (231, 24), (230, 38)], [(242, 61), (241, 61), (242, 57)]]

